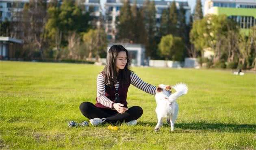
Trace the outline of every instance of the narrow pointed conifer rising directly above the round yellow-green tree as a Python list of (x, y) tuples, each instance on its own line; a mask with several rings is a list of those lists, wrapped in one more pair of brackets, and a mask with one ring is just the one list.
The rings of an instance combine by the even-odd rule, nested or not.
[(178, 11), (176, 8), (175, 0), (171, 3), (171, 7), (169, 11), (168, 34), (173, 34), (174, 36), (178, 36)]

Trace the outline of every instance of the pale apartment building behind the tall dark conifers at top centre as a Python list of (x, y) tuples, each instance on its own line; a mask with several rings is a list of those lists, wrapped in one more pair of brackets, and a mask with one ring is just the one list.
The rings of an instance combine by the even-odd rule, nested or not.
[[(145, 0), (137, 0), (137, 8), (142, 8)], [(156, 6), (156, 26), (160, 26), (161, 15), (164, 9), (168, 9), (171, 6), (172, 1), (165, 0), (155, 0)], [(134, 3), (134, 0), (130, 0), (130, 5)], [(115, 42), (115, 36), (117, 34), (117, 25), (120, 15), (120, 8), (123, 6), (122, 0), (86, 0), (85, 7), (89, 9), (89, 6), (94, 7), (95, 16), (97, 14), (102, 14), (105, 20), (105, 31), (107, 33), (107, 38), (110, 41)], [(183, 6), (185, 9), (185, 18), (186, 24), (189, 24), (191, 8), (188, 5), (188, 2), (176, 1), (177, 9), (180, 9), (180, 6)]]

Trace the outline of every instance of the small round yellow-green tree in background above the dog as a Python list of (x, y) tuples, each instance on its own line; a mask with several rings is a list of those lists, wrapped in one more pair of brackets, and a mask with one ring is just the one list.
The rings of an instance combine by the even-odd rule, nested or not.
[(180, 37), (168, 34), (163, 36), (158, 44), (161, 54), (166, 60), (182, 61), (184, 54), (184, 43)]

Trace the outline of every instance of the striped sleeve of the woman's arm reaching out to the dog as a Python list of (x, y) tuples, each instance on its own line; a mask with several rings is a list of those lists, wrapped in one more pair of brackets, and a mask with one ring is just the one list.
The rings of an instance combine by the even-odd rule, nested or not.
[(131, 84), (148, 94), (156, 95), (156, 86), (142, 81), (135, 73), (131, 73)]

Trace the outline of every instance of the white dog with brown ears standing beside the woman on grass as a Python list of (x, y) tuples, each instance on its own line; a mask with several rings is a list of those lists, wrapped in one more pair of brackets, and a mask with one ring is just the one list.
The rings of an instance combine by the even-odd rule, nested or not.
[[(171, 94), (171, 88), (174, 88), (176, 92)], [(176, 99), (183, 94), (187, 94), (188, 87), (186, 84), (176, 84), (175, 86), (165, 86), (160, 84), (156, 88), (156, 115), (158, 122), (155, 127), (155, 131), (159, 131), (163, 126), (163, 118), (167, 117), (167, 123), (171, 125), (171, 131), (174, 131), (174, 122), (177, 119), (179, 107), (176, 103)]]

